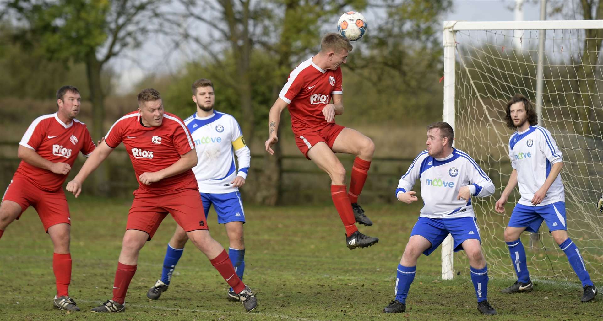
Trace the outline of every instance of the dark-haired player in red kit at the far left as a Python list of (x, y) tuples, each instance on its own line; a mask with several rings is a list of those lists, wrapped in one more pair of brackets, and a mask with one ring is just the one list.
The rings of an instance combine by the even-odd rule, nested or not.
[(21, 164), (10, 181), (0, 205), (0, 237), (7, 226), (33, 206), (54, 245), (52, 270), (57, 283), (54, 305), (61, 310), (80, 311), (69, 297), (71, 217), (62, 185), (81, 151), (95, 149), (80, 113), (80, 92), (63, 86), (57, 92), (58, 110), (37, 117), (25, 131), (17, 155)]

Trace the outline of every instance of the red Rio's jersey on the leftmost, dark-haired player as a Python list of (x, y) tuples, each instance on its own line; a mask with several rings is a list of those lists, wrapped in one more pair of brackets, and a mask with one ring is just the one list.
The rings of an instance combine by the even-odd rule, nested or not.
[[(69, 166), (74, 165), (80, 151), (88, 157), (96, 148), (85, 123), (74, 119), (65, 125), (57, 113), (37, 117), (25, 131), (19, 145), (33, 149), (52, 163), (62, 162)], [(67, 175), (55, 174), (25, 161), (21, 161), (16, 173), (48, 192), (60, 190), (67, 178)]]

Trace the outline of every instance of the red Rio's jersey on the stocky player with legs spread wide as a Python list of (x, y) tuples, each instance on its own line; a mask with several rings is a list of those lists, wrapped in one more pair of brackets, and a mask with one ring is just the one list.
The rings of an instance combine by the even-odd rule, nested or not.
[[(157, 127), (142, 125), (138, 111), (125, 114), (107, 132), (105, 142), (116, 148), (124, 142), (130, 155), (136, 179), (144, 172), (157, 172), (171, 166), (184, 155), (195, 149), (191, 133), (182, 119), (164, 113), (163, 122)], [(140, 189), (150, 193), (163, 193), (179, 189), (197, 189), (197, 179), (192, 170), (174, 175), (150, 185), (138, 181)]]

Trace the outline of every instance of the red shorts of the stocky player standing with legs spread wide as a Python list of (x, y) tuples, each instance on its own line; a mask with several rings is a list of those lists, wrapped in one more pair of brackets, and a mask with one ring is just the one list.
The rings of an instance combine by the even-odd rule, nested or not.
[(145, 231), (149, 235), (148, 240), (150, 241), (168, 213), (172, 214), (176, 223), (185, 232), (209, 229), (201, 195), (196, 189), (178, 190), (159, 195), (135, 190), (125, 229)]

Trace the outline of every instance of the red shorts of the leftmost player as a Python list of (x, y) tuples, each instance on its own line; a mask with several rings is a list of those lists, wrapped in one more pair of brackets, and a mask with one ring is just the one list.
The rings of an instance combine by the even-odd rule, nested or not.
[[(62, 189), (57, 192), (46, 192), (40, 190), (28, 178), (22, 175), (14, 175), (8, 184), (2, 201), (13, 201), (21, 206), (21, 214), (32, 206), (36, 209), (40, 220), (44, 225), (44, 231), (59, 223), (71, 225), (69, 217), (69, 206)], [(19, 214), (19, 217), (21, 217)], [(17, 217), (17, 220), (19, 219)]]

